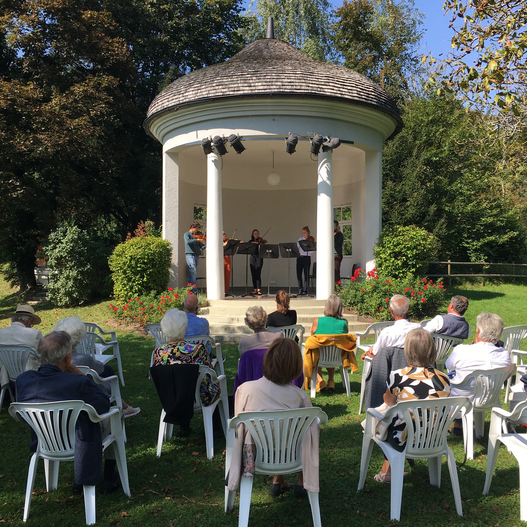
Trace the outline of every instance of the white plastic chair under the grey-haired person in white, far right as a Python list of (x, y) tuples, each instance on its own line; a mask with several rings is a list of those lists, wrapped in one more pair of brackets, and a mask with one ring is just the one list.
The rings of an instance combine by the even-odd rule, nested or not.
[(501, 408), (500, 392), (503, 383), (511, 375), (514, 375), (515, 371), (516, 366), (514, 364), (501, 368), (477, 369), (465, 377), (461, 383), (451, 383), (451, 386), (463, 388), (471, 386), (475, 379), (474, 403), (470, 411), (463, 416), (463, 436), (467, 459), (474, 459), (474, 438), (472, 436), (474, 424), (476, 437), (483, 437), (485, 412), (490, 412), (492, 408)]

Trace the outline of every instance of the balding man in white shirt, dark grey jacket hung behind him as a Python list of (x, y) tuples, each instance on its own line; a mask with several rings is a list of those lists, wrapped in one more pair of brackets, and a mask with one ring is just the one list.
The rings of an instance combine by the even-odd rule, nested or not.
[(412, 329), (421, 327), (421, 324), (408, 321), (410, 301), (405, 296), (394, 295), (390, 299), (389, 309), (395, 324), (384, 328), (375, 344), (362, 355), (363, 360), (365, 355), (373, 357), (364, 389), (365, 408), (375, 408), (383, 404), (386, 381), (390, 373), (394, 369), (408, 366), (403, 349), (406, 335)]

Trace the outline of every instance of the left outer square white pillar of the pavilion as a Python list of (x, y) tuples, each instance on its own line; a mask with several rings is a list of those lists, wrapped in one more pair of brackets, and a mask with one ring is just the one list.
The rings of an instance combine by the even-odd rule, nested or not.
[[(170, 264), (171, 287), (179, 284), (179, 161), (178, 154), (164, 152), (163, 154), (163, 239), (172, 244), (172, 262)], [(181, 253), (182, 273), (185, 275), (184, 251)]]

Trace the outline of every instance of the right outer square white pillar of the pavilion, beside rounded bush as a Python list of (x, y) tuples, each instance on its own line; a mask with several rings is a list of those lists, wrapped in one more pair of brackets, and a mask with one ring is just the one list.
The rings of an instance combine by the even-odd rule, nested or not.
[(375, 267), (373, 248), (382, 222), (382, 185), (382, 154), (366, 152), (364, 256), (367, 271)]

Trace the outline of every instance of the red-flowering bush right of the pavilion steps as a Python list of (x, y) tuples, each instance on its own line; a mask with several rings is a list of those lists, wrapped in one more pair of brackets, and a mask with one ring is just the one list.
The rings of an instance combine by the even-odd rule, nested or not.
[(445, 302), (445, 292), (441, 278), (436, 282), (410, 276), (398, 280), (382, 278), (375, 269), (366, 272), (360, 268), (355, 271), (355, 276), (336, 289), (344, 307), (379, 322), (392, 320), (388, 302), (393, 295), (409, 298), (409, 317), (422, 320), (437, 315)]

